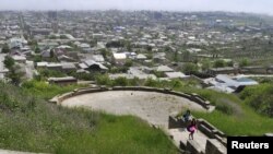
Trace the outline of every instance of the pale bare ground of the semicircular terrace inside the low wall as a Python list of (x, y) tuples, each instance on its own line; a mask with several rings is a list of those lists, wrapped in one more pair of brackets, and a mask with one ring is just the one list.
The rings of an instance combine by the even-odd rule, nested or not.
[(182, 109), (205, 110), (189, 99), (155, 92), (109, 91), (79, 95), (61, 103), (67, 107), (87, 107), (115, 115), (133, 115), (167, 129), (168, 116)]

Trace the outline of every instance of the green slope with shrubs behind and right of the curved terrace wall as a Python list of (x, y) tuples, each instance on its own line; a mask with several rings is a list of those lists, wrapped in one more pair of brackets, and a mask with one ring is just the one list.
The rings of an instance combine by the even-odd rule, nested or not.
[[(119, 82), (117, 82), (119, 81)], [(120, 82), (122, 81), (122, 82)], [(273, 132), (273, 118), (263, 116), (272, 114), (272, 90), (270, 84), (263, 84), (246, 88), (240, 99), (235, 94), (218, 93), (212, 90), (203, 90), (197, 81), (155, 81), (119, 79), (110, 81), (109, 78), (99, 78), (98, 84), (112, 85), (145, 85), (152, 87), (169, 87), (178, 92), (198, 93), (216, 106), (216, 110), (206, 112), (193, 112), (198, 118), (206, 119), (216, 128), (228, 135), (262, 135)], [(122, 84), (121, 84), (122, 83)], [(133, 83), (133, 84), (132, 84)], [(252, 107), (254, 107), (254, 109)], [(263, 114), (261, 114), (263, 112)]]

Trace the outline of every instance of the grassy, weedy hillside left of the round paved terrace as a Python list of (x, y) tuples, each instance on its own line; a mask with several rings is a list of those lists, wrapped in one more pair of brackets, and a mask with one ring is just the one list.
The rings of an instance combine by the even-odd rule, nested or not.
[(29, 82), (20, 90), (0, 83), (0, 149), (60, 154), (177, 153), (161, 130), (139, 118), (68, 109), (43, 99), (74, 87)]

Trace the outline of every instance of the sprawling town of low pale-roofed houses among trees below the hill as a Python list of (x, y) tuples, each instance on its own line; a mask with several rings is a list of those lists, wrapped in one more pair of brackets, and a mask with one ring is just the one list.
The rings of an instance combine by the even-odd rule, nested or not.
[(0, 17), (2, 80), (11, 71), (3, 64), (7, 56), (23, 74), (15, 81), (40, 75), (60, 83), (92, 81), (102, 73), (140, 80), (194, 76), (205, 87), (232, 93), (258, 84), (247, 76), (273, 72), (273, 26), (266, 16), (109, 10), (11, 11)]

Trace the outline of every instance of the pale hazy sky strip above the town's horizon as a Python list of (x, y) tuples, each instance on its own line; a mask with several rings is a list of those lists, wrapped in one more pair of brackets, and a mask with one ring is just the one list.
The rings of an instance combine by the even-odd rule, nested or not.
[(0, 0), (0, 10), (174, 10), (273, 14), (273, 0)]

